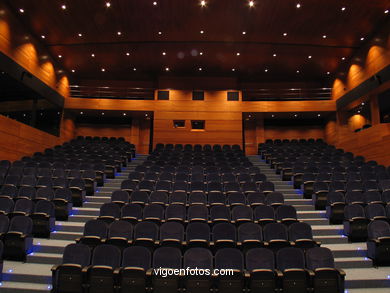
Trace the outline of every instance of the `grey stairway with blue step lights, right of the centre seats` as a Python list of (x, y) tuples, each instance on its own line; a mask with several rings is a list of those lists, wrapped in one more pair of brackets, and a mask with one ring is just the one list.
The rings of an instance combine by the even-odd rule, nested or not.
[(365, 242), (349, 243), (343, 235), (343, 226), (329, 225), (325, 211), (316, 211), (312, 200), (304, 199), (301, 190), (294, 189), (291, 181), (282, 181), (281, 176), (260, 156), (248, 158), (274, 183), (275, 191), (283, 193), (285, 203), (296, 208), (298, 219), (311, 225), (314, 240), (321, 241), (321, 246), (332, 250), (336, 267), (346, 273), (346, 292), (389, 292), (390, 268), (372, 266), (371, 259), (366, 257)]

